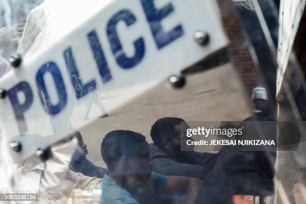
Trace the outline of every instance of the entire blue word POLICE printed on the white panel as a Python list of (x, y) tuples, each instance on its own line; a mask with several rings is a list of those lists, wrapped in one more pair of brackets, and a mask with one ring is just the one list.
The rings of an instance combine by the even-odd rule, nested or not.
[[(174, 11), (172, 3), (168, 2), (166, 5), (157, 8), (154, 0), (139, 0), (139, 2), (149, 25), (152, 39), (154, 40), (154, 44), (158, 50), (163, 49), (163, 47), (183, 35), (184, 30), (179, 22), (171, 29), (167, 29), (167, 31), (165, 31), (162, 26), (162, 20), (167, 18), (167, 16)], [(140, 37), (135, 39), (132, 43), (134, 47), (133, 56), (127, 55), (124, 52), (122, 42), (119, 39), (117, 24), (123, 22), (126, 26), (130, 26), (136, 21), (137, 19), (134, 13), (131, 10), (124, 8), (113, 13), (106, 23), (106, 35), (110, 44), (111, 52), (118, 66), (126, 71), (135, 67), (143, 59), (145, 56), (146, 46), (144, 37), (140, 35)], [(99, 78), (102, 83), (105, 84), (112, 80), (112, 74), (105, 58), (102, 44), (100, 43), (100, 38), (102, 38), (101, 34), (102, 33), (98, 33), (94, 28), (89, 30), (85, 37), (87, 38), (92, 56), (95, 60), (95, 65), (99, 72)], [(62, 50), (62, 57), (65, 61), (65, 68), (70, 74), (69, 78), (76, 99), (81, 99), (83, 96), (96, 89), (97, 81), (95, 79), (88, 81), (81, 80), (78, 64), (74, 58), (71, 46), (67, 46)], [(67, 104), (67, 84), (64, 83), (63, 75), (60, 70), (61, 69), (57, 63), (49, 60), (39, 66), (35, 74), (35, 85), (37, 86), (41, 103), (49, 115), (60, 113)], [(45, 74), (52, 76), (56, 89), (55, 92), (58, 96), (58, 101), (56, 102), (50, 99), (51, 94), (48, 92), (46, 87), (47, 83), (44, 77)], [(17, 94), (20, 92), (23, 92), (25, 96), (25, 99), (22, 101), (17, 97)], [(29, 83), (25, 80), (18, 82), (7, 90), (7, 95), (12, 105), (16, 120), (24, 120), (24, 113), (33, 102), (33, 90)]]

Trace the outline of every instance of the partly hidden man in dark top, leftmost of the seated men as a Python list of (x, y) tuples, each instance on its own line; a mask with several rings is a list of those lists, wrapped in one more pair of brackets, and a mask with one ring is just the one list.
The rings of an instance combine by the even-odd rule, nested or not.
[(86, 158), (86, 155), (88, 154), (87, 145), (84, 143), (79, 131), (75, 131), (73, 136), (77, 138), (80, 149), (76, 148), (72, 154), (71, 161), (69, 163), (70, 170), (90, 177), (102, 178), (107, 169), (94, 165)]

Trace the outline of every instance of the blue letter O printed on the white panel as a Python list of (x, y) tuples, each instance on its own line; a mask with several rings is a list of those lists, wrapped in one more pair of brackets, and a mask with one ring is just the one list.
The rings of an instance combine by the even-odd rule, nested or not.
[[(43, 78), (43, 75), (46, 72), (49, 72), (52, 75), (53, 82), (56, 87), (56, 91), (59, 98), (57, 104), (52, 104), (49, 94), (46, 90), (45, 81)], [(59, 113), (67, 104), (67, 93), (61, 73), (55, 62), (48, 61), (38, 69), (36, 73), (36, 84), (39, 90), (41, 102), (46, 112), (51, 115)]]

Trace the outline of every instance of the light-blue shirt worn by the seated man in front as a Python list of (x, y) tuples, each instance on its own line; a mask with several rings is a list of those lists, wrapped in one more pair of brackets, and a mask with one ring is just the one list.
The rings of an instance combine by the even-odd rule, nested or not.
[[(168, 176), (152, 171), (149, 178), (149, 184), (156, 189), (163, 190), (168, 184)], [(102, 204), (138, 203), (125, 188), (117, 185), (107, 174), (105, 174), (102, 179), (101, 201)]]

